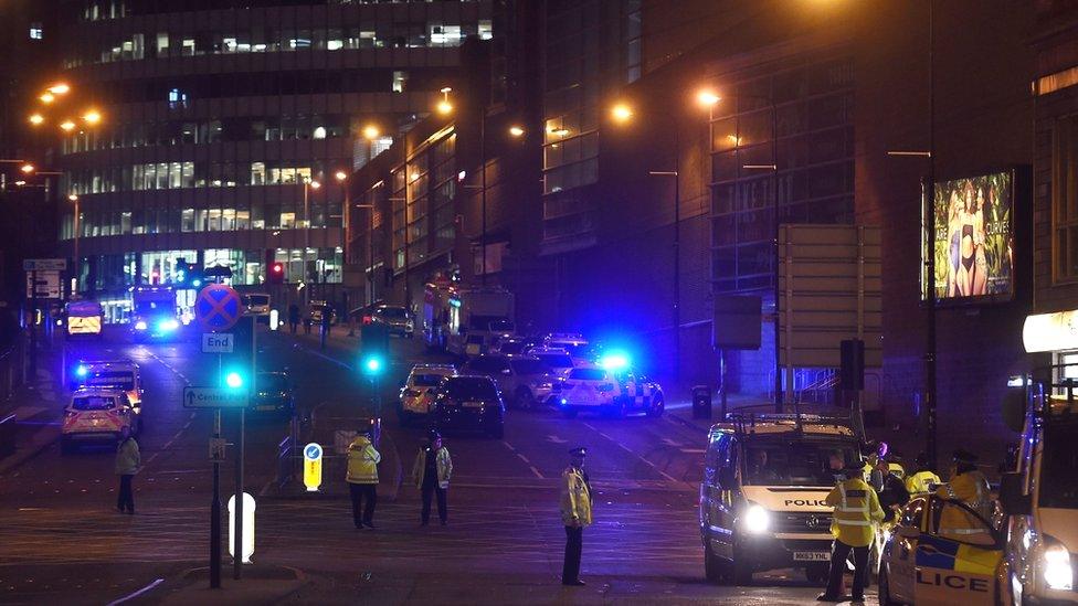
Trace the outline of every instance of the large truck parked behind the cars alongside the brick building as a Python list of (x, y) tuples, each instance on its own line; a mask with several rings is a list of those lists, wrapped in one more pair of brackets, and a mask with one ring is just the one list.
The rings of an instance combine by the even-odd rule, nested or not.
[(435, 350), (465, 358), (487, 351), (514, 322), (516, 300), (504, 288), (427, 284), (423, 297), (423, 339)]

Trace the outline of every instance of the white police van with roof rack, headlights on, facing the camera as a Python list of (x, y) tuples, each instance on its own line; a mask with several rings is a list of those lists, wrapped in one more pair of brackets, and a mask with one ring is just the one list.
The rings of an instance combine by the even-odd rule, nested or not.
[(708, 581), (746, 585), (788, 567), (826, 580), (832, 455), (860, 458), (849, 417), (733, 413), (711, 427), (699, 511)]

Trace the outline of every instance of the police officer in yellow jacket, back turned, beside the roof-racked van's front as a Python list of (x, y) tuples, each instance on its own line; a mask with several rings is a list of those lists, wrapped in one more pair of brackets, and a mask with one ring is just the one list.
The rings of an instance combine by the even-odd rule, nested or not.
[(831, 531), (835, 543), (831, 551), (831, 573), (827, 588), (816, 597), (820, 602), (839, 602), (846, 557), (854, 552), (854, 602), (865, 599), (865, 573), (868, 567), (868, 550), (875, 534), (873, 524), (884, 518), (876, 491), (865, 481), (864, 465), (852, 465), (845, 478), (827, 495), (825, 502), (835, 508)]

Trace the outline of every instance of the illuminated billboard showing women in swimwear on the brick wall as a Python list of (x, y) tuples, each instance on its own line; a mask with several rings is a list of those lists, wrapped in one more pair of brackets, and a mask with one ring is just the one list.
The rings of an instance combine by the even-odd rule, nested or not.
[(1014, 296), (1014, 173), (938, 182), (932, 212), (936, 273), (931, 283), (937, 300), (1010, 300)]

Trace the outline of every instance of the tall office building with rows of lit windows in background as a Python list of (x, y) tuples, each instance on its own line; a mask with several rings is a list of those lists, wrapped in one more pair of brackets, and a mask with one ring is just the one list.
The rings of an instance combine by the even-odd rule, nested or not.
[(464, 40), (494, 36), (492, 4), (66, 4), (64, 77), (103, 116), (60, 149), (81, 290), (119, 319), (127, 287), (175, 281), (178, 259), (257, 289), (276, 261), (276, 295), (361, 298), (344, 285), (337, 173), (431, 111)]

